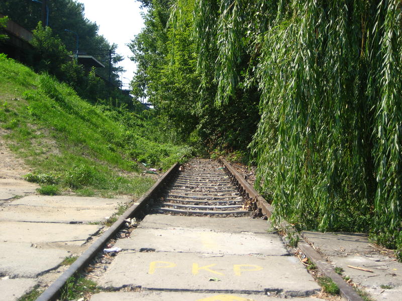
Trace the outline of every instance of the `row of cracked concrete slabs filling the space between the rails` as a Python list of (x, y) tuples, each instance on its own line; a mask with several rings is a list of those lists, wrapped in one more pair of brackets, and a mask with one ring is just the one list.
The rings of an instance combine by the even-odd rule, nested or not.
[(131, 237), (117, 241), (124, 251), (97, 281), (111, 290), (141, 287), (141, 292), (91, 299), (297, 299), (319, 292), (303, 264), (267, 230), (267, 221), (248, 217), (147, 215)]

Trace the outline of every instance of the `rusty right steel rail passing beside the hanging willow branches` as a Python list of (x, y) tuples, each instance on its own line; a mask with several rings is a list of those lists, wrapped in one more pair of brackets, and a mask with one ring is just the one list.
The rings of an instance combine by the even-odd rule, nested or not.
[[(228, 172), (229, 176), (238, 183), (241, 189), (248, 194), (251, 199), (255, 199), (258, 208), (267, 217), (270, 217), (273, 212), (273, 207), (252, 187), (223, 157), (219, 161), (224, 165), (224, 169)], [(287, 222), (280, 224), (281, 229), (285, 233), (297, 231)], [(318, 253), (303, 237), (299, 238), (297, 247), (317, 266), (317, 268), (327, 277), (334, 281), (340, 290), (340, 295), (347, 301), (363, 301), (363, 298), (348, 284), (346, 281), (334, 271), (334, 268), (329, 264), (320, 253)]]

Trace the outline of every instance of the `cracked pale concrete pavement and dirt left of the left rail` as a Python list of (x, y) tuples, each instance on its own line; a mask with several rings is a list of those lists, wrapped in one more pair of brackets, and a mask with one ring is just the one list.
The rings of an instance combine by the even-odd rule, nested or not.
[(36, 195), (23, 162), (0, 140), (0, 296), (18, 300), (37, 284), (54, 281), (65, 257), (80, 255), (121, 199)]

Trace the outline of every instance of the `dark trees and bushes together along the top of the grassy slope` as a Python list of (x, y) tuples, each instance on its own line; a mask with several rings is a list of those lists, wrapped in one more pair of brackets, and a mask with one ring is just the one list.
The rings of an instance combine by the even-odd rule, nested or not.
[[(133, 102), (120, 89), (119, 73), (124, 69), (117, 66), (123, 60), (116, 53), (117, 45), (110, 45), (103, 36), (98, 35), (97, 25), (85, 18), (83, 5), (74, 0), (54, 0), (47, 7), (49, 23), (44, 27), (45, 24), (40, 21), (41, 6), (37, 2), (0, 2), (2, 14), (33, 32), (33, 39), (30, 41), (32, 50), (11, 50), (10, 45), (1, 43), (0, 37), (0, 52), (4, 49), (9, 56), (15, 55), (16, 59), (33, 67), (36, 72), (55, 76), (91, 103), (106, 102), (112, 106), (138, 109), (138, 101)], [(3, 20), (2, 23), (4, 22)], [(76, 36), (76, 33), (79, 35)], [(99, 65), (84, 67), (79, 63), (79, 55), (93, 56), (105, 68)]]

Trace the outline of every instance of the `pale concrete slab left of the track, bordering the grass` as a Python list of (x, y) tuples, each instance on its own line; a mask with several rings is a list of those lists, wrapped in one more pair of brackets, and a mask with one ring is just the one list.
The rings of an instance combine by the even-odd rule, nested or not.
[(0, 208), (0, 220), (87, 223), (102, 221), (116, 211), (126, 199), (105, 199), (69, 196), (27, 196)]

